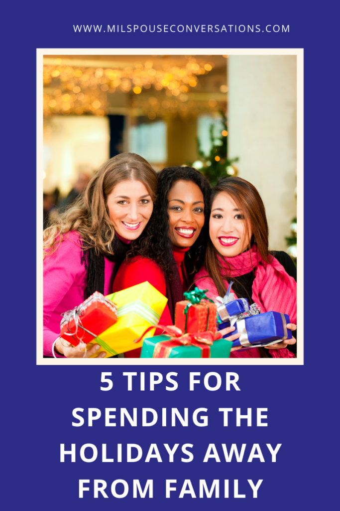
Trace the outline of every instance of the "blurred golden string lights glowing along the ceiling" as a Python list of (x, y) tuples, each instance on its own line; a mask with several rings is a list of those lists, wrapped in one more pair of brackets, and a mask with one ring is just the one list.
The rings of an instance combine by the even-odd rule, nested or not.
[[(53, 64), (43, 66), (44, 117), (70, 113), (102, 117), (109, 113), (109, 95), (115, 92), (128, 93), (130, 107), (139, 109), (139, 114), (151, 120), (174, 112), (187, 115), (189, 110), (196, 114), (202, 109), (211, 110), (221, 102), (221, 96), (222, 103), (226, 102), (226, 85), (220, 87), (222, 95), (217, 95), (217, 100), (204, 101), (193, 92), (196, 92), (199, 77), (210, 73), (214, 65), (210, 61), (198, 62), (192, 56), (182, 66), (156, 65), (146, 60), (113, 68), (64, 65), (62, 59), (57, 58)], [(195, 109), (197, 111), (193, 112)]]

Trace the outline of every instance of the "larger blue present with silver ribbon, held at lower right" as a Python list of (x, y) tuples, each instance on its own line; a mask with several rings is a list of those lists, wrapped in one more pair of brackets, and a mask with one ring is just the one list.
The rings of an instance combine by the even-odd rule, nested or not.
[[(233, 341), (232, 345), (242, 345), (246, 349), (268, 346), (282, 339), (292, 339), (292, 331), (287, 329), (289, 322), (289, 315), (273, 311), (246, 316), (233, 323), (235, 330), (223, 337), (226, 339), (230, 335), (241, 334), (238, 339)], [(226, 327), (230, 327), (229, 321), (220, 323), (218, 329), (222, 330)]]

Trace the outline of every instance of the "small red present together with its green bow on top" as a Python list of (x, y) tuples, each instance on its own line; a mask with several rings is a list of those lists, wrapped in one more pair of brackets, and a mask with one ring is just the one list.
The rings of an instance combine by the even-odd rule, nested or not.
[[(216, 310), (213, 300), (207, 298), (207, 289), (197, 287), (184, 293), (186, 300), (177, 301), (175, 326), (185, 334), (187, 332), (216, 331)], [(206, 301), (204, 301), (206, 300)]]

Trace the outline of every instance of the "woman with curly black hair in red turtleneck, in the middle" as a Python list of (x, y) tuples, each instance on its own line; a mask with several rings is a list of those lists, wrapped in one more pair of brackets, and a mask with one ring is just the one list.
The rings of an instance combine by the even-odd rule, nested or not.
[(175, 304), (203, 264), (210, 190), (196, 169), (163, 169), (149, 224), (116, 275), (113, 292), (148, 281), (168, 298), (162, 324), (173, 324)]

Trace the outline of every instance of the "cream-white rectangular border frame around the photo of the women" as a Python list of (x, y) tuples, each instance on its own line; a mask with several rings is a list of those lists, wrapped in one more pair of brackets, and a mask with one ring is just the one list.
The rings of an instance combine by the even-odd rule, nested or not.
[[(289, 359), (147, 359), (147, 358), (43, 358), (43, 265), (41, 224), (43, 220), (43, 56), (46, 55), (296, 55), (297, 56), (297, 217), (299, 220), (299, 265), (297, 307), (299, 317), (298, 358)], [(266, 48), (38, 48), (37, 49), (37, 365), (303, 365), (303, 49)]]

